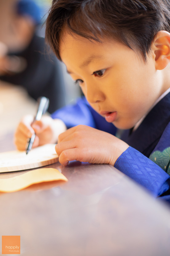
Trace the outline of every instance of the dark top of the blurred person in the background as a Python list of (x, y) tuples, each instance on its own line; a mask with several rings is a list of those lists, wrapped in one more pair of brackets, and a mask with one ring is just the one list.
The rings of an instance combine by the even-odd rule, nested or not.
[[(31, 43), (23, 52), (9, 55), (13, 58), (16, 56), (22, 58), (20, 65), (18, 64), (18, 71), (23, 65), (26, 65), (26, 68), (17, 72), (9, 67), (9, 73), (0, 76), (0, 79), (23, 86), (35, 100), (40, 96), (49, 98), (48, 111), (52, 113), (65, 105), (65, 87), (61, 64), (53, 53), (47, 54), (47, 51), (45, 39), (34, 35)], [(26, 63), (23, 63), (23, 60)], [(13, 67), (16, 68), (16, 62)]]

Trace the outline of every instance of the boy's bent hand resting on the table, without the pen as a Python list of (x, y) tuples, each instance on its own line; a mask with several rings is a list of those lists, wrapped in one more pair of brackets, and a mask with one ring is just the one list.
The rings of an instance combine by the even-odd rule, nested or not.
[(79, 125), (59, 135), (55, 150), (63, 165), (72, 160), (114, 165), (128, 147), (128, 144), (112, 134)]

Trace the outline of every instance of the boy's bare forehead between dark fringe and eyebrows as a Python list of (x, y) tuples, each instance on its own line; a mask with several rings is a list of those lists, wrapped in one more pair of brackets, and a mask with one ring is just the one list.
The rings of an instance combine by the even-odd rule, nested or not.
[(101, 42), (89, 40), (79, 35), (64, 33), (59, 42), (59, 53), (61, 60), (66, 64), (69, 60), (79, 60), (83, 65), (93, 59), (102, 60), (111, 54), (115, 57), (117, 54), (124, 54), (131, 51), (127, 46), (116, 42), (113, 39), (102, 39)]

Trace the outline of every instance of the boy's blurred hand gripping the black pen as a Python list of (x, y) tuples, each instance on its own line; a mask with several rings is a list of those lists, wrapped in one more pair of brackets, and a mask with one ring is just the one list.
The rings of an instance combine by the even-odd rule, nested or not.
[(19, 123), (14, 135), (14, 143), (18, 150), (26, 149), (27, 139), (34, 133), (36, 136), (33, 147), (38, 147), (47, 143), (57, 143), (58, 135), (66, 130), (60, 119), (43, 116), (40, 121), (32, 124), (33, 120), (34, 116), (26, 115)]

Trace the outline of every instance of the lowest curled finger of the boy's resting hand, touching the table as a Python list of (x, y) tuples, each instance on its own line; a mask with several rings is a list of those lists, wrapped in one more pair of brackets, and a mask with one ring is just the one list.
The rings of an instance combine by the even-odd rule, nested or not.
[(58, 160), (64, 166), (66, 166), (69, 161), (81, 161), (80, 150), (78, 148), (66, 149), (61, 152)]

